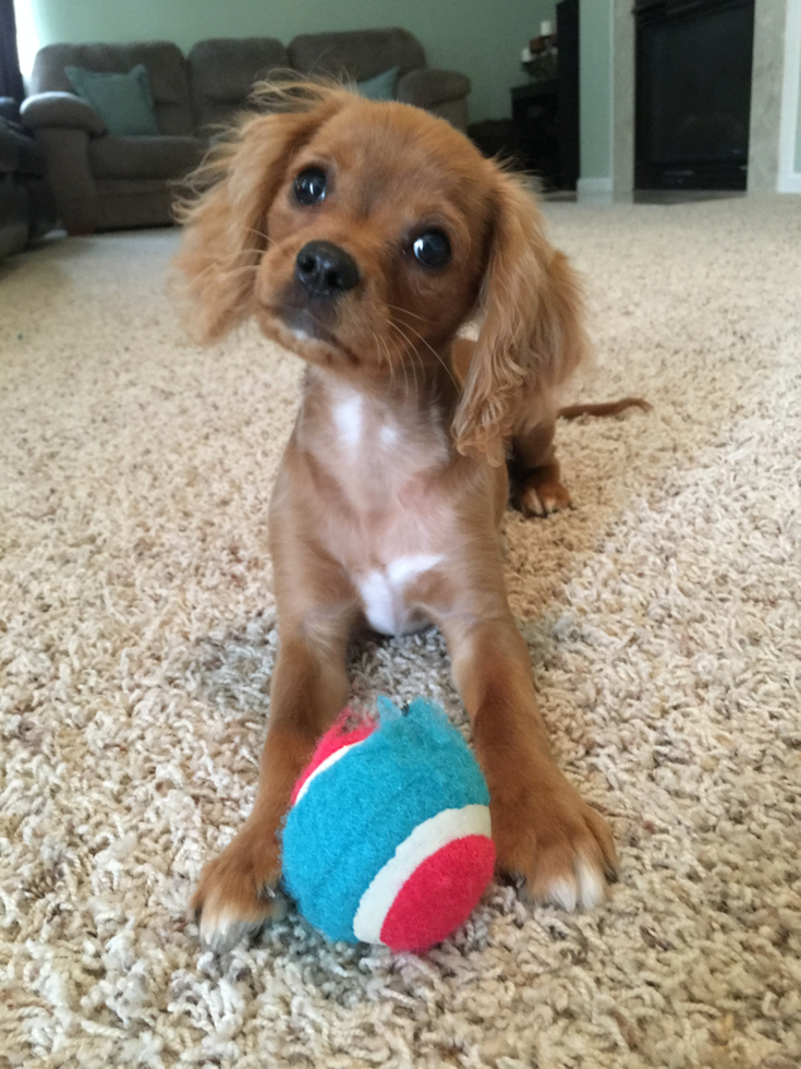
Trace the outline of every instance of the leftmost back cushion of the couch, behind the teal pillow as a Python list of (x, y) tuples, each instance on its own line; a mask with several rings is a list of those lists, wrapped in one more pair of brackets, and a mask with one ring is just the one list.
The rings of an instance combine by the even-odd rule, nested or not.
[(31, 93), (56, 89), (72, 93), (64, 68), (124, 74), (144, 63), (153, 94), (159, 133), (191, 134), (193, 130), (186, 61), (177, 45), (148, 41), (134, 45), (46, 45), (36, 55)]

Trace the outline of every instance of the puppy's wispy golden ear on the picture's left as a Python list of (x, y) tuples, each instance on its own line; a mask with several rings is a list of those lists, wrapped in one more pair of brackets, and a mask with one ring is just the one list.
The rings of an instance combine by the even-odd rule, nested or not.
[[(292, 92), (294, 91), (294, 93)], [(184, 320), (201, 344), (251, 313), (256, 268), (267, 248), (267, 214), (293, 154), (347, 99), (325, 86), (262, 87), (267, 106), (298, 110), (243, 117), (190, 176), (175, 217), (184, 225), (173, 261)]]

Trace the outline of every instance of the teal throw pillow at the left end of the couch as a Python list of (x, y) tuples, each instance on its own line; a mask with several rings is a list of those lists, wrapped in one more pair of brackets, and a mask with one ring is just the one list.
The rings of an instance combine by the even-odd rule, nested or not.
[(158, 134), (144, 63), (132, 67), (128, 74), (101, 74), (82, 67), (65, 67), (64, 74), (77, 95), (97, 111), (109, 133), (118, 137), (153, 137)]

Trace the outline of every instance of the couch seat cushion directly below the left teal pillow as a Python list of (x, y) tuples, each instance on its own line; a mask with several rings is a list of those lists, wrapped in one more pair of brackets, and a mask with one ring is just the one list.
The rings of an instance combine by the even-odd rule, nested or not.
[(96, 178), (181, 178), (203, 158), (198, 137), (97, 137), (89, 142)]

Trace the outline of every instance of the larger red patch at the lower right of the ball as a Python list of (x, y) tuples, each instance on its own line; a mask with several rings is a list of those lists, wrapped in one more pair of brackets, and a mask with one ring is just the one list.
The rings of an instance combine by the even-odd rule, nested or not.
[(381, 942), (390, 950), (427, 950), (468, 920), (495, 867), (495, 844), (464, 836), (426, 857), (389, 908)]

